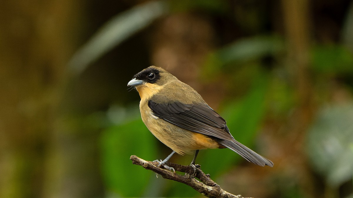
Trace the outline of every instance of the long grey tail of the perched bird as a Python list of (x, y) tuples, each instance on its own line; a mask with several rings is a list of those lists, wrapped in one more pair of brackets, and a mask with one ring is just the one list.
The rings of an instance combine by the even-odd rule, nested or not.
[(218, 142), (226, 146), (227, 148), (233, 150), (235, 153), (238, 153), (240, 156), (244, 157), (249, 162), (255, 163), (260, 166), (267, 165), (273, 167), (273, 162), (255, 153), (255, 151), (251, 150), (250, 148), (247, 148), (236, 140), (219, 140)]

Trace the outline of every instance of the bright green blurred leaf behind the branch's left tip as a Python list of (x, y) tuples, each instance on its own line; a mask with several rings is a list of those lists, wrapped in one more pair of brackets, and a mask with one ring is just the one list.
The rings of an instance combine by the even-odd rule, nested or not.
[(130, 156), (155, 159), (157, 149), (154, 139), (140, 118), (103, 131), (102, 173), (108, 191), (122, 197), (143, 194), (153, 173), (132, 165)]

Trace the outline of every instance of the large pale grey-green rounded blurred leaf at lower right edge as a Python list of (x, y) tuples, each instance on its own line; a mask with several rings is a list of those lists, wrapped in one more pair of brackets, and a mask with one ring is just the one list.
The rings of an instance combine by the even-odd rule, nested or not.
[(337, 187), (353, 175), (353, 105), (325, 107), (307, 136), (307, 154), (327, 184)]

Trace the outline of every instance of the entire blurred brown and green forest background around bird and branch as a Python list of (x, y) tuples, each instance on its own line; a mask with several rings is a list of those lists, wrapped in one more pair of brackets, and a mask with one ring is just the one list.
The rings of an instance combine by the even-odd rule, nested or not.
[[(2, 0), (0, 197), (202, 197), (132, 165), (171, 150), (126, 84), (160, 66), (233, 136), (197, 163), (245, 197), (353, 197), (353, 1)], [(192, 156), (175, 155), (187, 165)]]

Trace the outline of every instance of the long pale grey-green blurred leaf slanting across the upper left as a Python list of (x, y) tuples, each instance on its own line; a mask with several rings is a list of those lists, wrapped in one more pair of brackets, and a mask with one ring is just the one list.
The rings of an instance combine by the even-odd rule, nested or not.
[(73, 55), (68, 69), (73, 75), (82, 73), (90, 63), (168, 11), (165, 1), (150, 1), (119, 13)]

